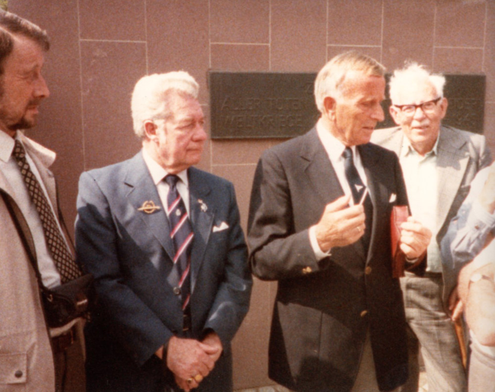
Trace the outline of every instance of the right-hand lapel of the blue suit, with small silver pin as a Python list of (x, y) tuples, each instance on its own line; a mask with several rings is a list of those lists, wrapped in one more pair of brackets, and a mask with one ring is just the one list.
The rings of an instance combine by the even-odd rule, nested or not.
[(204, 252), (213, 226), (214, 212), (208, 203), (210, 187), (200, 178), (199, 171), (189, 168), (189, 208), (191, 225), (193, 226), (194, 240), (191, 249), (191, 293), (194, 291), (198, 278), (199, 268), (204, 259)]

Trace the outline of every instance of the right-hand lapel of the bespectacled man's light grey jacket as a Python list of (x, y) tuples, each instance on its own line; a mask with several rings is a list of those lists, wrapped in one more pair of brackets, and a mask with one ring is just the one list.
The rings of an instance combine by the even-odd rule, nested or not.
[(465, 140), (456, 137), (448, 127), (441, 127), (437, 156), (437, 232), (446, 220), (450, 206), (461, 186), (469, 163)]

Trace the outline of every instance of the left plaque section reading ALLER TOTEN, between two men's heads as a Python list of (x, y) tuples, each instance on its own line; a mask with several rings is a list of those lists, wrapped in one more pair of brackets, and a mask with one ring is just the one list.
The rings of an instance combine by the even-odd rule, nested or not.
[(315, 73), (214, 72), (208, 75), (211, 137), (292, 137), (318, 119)]

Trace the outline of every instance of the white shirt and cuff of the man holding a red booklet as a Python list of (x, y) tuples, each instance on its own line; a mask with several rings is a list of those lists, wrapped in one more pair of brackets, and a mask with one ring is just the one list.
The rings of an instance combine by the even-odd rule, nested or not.
[[(316, 132), (318, 134), (318, 138), (323, 144), (323, 148), (325, 149), (328, 159), (332, 164), (335, 173), (337, 175), (337, 179), (344, 191), (346, 196), (351, 196), (349, 200), (349, 204), (353, 205), (352, 194), (350, 191), (350, 186), (347, 181), (346, 172), (344, 168), (344, 157), (342, 153), (346, 149), (346, 146), (336, 137), (334, 137), (328, 129), (323, 125), (323, 121), (321, 118), (316, 123)], [(361, 157), (359, 156), (359, 151), (356, 149), (356, 146), (351, 146), (352, 157), (354, 161), (354, 166), (357, 169), (359, 177), (365, 186), (368, 185), (368, 180), (366, 178), (366, 174), (364, 173), (363, 164), (361, 162)], [(323, 252), (318, 245), (318, 241), (316, 240), (316, 229), (315, 226), (311, 226), (309, 228), (309, 242), (311, 243), (311, 247), (313, 248), (314, 254), (318, 260), (321, 260), (330, 255), (331, 250), (328, 252)]]

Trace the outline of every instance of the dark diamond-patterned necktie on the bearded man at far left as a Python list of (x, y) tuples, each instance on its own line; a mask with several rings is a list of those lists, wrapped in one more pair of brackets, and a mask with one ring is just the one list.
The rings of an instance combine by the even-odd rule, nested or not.
[(60, 281), (65, 283), (80, 277), (81, 270), (74, 262), (74, 259), (67, 248), (67, 243), (60, 232), (45, 193), (31, 171), (26, 160), (24, 148), (18, 140), (15, 141), (13, 156), (21, 169), (22, 178), (26, 184), (29, 196), (40, 216), (43, 232), (45, 233), (45, 240), (51, 257), (53, 258), (53, 262), (55, 263), (55, 267), (60, 274)]

